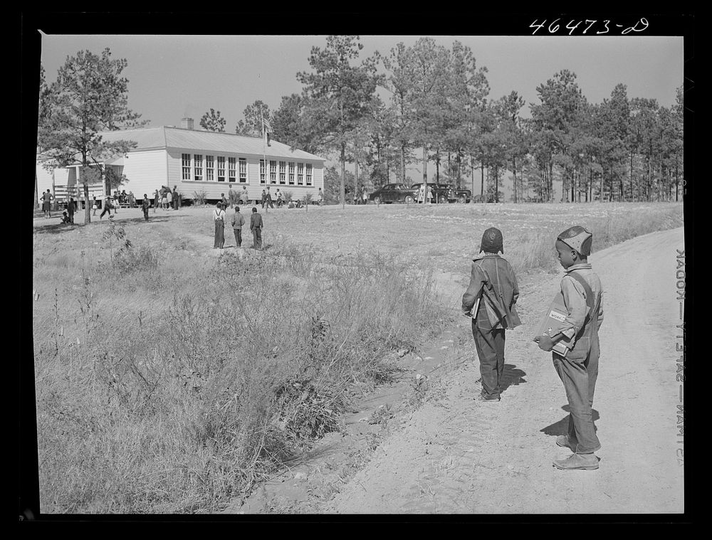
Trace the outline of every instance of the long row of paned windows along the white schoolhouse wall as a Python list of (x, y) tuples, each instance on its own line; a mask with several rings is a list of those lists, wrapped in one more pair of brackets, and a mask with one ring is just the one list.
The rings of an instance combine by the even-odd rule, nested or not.
[[(247, 183), (247, 159), (244, 157), (227, 158), (224, 156), (205, 156), (202, 154), (181, 154), (182, 179), (194, 181), (217, 181)], [(227, 167), (226, 167), (227, 164)], [(290, 186), (311, 186), (313, 180), (313, 166), (310, 163), (300, 162), (269, 162), (269, 183)], [(260, 184), (267, 184), (265, 162), (260, 159)]]

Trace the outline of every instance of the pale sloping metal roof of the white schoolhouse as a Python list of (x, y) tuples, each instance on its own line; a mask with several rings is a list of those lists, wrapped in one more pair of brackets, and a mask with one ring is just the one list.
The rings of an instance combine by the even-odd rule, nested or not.
[(176, 148), (199, 150), (201, 152), (231, 152), (253, 156), (266, 154), (269, 157), (283, 157), (286, 159), (326, 161), (323, 157), (315, 156), (300, 149), (292, 151), (288, 144), (275, 140), (271, 140), (270, 146), (266, 147), (262, 137), (243, 137), (231, 133), (199, 131), (182, 127), (159, 126), (120, 129), (118, 131), (101, 132), (101, 136), (108, 142), (120, 139), (137, 142), (137, 147), (131, 149), (130, 152)]

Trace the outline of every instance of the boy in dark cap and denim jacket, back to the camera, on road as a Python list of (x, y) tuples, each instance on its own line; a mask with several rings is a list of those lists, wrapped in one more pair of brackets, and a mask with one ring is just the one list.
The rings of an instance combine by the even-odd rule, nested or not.
[(516, 303), (517, 277), (504, 253), (499, 229), (482, 235), (480, 253), (472, 260), (470, 284), (462, 295), (462, 311), (472, 317), (472, 337), (480, 361), (482, 391), (476, 401), (500, 401), (503, 391), (505, 331), (521, 324)]

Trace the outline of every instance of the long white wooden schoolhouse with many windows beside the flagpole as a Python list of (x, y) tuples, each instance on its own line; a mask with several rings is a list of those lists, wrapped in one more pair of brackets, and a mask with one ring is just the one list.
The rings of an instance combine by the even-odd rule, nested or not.
[[(262, 190), (270, 186), (272, 198), (276, 189), (291, 192), (294, 199), (306, 194), (314, 198), (319, 188), (324, 189), (325, 159), (291, 150), (288, 144), (261, 137), (200, 131), (193, 129), (193, 120), (184, 118), (181, 127), (161, 126), (122, 129), (102, 132), (107, 141), (124, 139), (137, 146), (122, 156), (106, 160), (105, 168), (125, 175), (127, 182), (119, 187), (132, 191), (137, 200), (147, 194), (153, 198), (162, 186), (177, 186), (184, 201), (204, 192), (207, 199), (216, 201), (221, 194), (228, 196), (232, 187), (241, 192), (246, 186), (251, 200), (259, 201)], [(68, 166), (48, 172), (37, 164), (38, 196), (47, 189), (58, 201), (69, 196), (83, 200), (82, 167)], [(90, 184), (89, 196), (103, 199), (109, 193), (103, 182)]]

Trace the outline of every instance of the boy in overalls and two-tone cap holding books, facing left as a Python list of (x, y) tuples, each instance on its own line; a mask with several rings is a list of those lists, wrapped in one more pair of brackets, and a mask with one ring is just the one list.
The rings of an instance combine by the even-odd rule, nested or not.
[(561, 280), (561, 292), (568, 314), (557, 334), (537, 339), (544, 351), (551, 351), (564, 337), (574, 340), (566, 356), (553, 352), (554, 369), (564, 384), (570, 407), (567, 434), (556, 440), (557, 445), (573, 452), (566, 459), (554, 461), (555, 467), (564, 470), (597, 469), (594, 452), (601, 448), (593, 425), (592, 406), (600, 354), (598, 331), (603, 322), (603, 287), (588, 262), (592, 239), (593, 235), (581, 226), (558, 235), (555, 247), (566, 273)]

